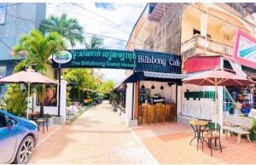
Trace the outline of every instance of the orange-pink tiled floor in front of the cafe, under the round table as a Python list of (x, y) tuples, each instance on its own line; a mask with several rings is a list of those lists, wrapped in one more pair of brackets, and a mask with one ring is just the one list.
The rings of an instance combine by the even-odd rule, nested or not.
[(160, 163), (256, 163), (256, 143), (246, 139), (236, 144), (236, 137), (222, 137), (223, 152), (210, 150), (196, 151), (196, 142), (189, 145), (193, 137), (192, 128), (178, 123), (158, 123), (149, 127), (133, 128), (137, 137), (143, 141), (156, 160)]

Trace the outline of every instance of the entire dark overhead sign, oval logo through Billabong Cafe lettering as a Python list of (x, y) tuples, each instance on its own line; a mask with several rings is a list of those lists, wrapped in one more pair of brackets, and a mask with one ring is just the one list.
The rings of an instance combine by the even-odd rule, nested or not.
[[(65, 62), (66, 60), (66, 62)], [(179, 55), (112, 49), (70, 49), (53, 54), (54, 68), (112, 68), (181, 73)]]

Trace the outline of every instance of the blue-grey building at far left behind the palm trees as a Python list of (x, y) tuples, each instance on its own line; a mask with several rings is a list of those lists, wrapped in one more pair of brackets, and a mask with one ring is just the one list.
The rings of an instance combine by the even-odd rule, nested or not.
[[(21, 60), (22, 54), (14, 58), (12, 48), (19, 37), (38, 29), (46, 15), (46, 3), (0, 3), (0, 76), (13, 73), (15, 64)], [(0, 86), (0, 97), (6, 91)]]

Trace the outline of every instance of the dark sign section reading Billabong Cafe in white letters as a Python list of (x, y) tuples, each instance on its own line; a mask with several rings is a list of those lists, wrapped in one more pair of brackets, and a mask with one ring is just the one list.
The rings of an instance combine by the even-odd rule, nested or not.
[(134, 50), (137, 55), (136, 71), (158, 71), (181, 73), (181, 57), (144, 50)]

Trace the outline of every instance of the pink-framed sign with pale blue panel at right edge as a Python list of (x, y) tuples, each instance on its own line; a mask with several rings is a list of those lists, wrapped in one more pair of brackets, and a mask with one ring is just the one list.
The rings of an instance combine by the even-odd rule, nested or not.
[(243, 31), (236, 31), (233, 58), (241, 65), (256, 69), (256, 39)]

